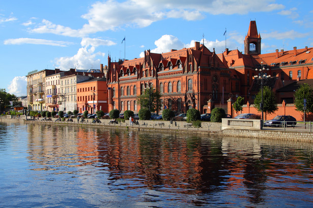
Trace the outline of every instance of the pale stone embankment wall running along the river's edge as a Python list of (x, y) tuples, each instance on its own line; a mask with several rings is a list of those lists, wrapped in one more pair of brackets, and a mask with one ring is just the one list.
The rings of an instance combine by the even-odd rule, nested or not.
[[(54, 124), (54, 125), (75, 125), (75, 126), (89, 126), (95, 128), (123, 128), (137, 131), (159, 131), (159, 132), (175, 132), (175, 133), (190, 133), (190, 134), (207, 134), (209, 136), (217, 137), (241, 137), (241, 138), (259, 138), (259, 139), (274, 139), (274, 140), (288, 140), (288, 141), (308, 141), (313, 142), (313, 128), (297, 124), (295, 127), (287, 128), (272, 128), (264, 127), (263, 129), (251, 129), (243, 126), (229, 127), (222, 126), (222, 123), (202, 122), (201, 127), (193, 127), (192, 124), (180, 121), (163, 121), (139, 120), (139, 125), (129, 125), (129, 121), (120, 122), (119, 124), (110, 124), (110, 120), (101, 119), (101, 123), (92, 123), (93, 119), (85, 119), (83, 123), (77, 123), (76, 119), (73, 122), (56, 121), (42, 121), (42, 118), (31, 120), (30, 116), (20, 117), (1, 117), (1, 122), (21, 122), (21, 123), (37, 123), (37, 124)], [(223, 118), (224, 119), (224, 118)], [(226, 119), (226, 118), (225, 118)], [(224, 122), (223, 122), (224, 123)], [(313, 126), (313, 125), (312, 125)]]

